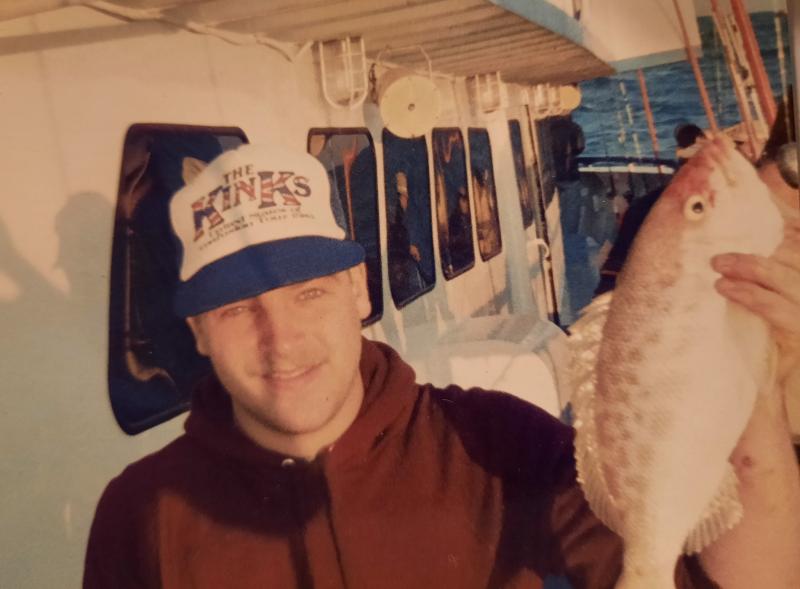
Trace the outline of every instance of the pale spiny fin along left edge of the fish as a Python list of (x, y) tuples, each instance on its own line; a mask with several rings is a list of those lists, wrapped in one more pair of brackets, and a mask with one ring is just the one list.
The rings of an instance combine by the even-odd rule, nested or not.
[(575, 462), (578, 482), (594, 514), (608, 528), (619, 533), (619, 509), (614, 503), (598, 456), (594, 402), (597, 388), (597, 357), (603, 326), (611, 306), (611, 292), (597, 297), (570, 326), (573, 397), (575, 415)]

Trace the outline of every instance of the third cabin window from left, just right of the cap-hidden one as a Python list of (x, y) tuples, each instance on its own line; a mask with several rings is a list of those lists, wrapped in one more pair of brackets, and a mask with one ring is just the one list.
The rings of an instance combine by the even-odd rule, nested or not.
[(398, 308), (433, 288), (428, 151), (424, 137), (383, 131), (389, 287)]

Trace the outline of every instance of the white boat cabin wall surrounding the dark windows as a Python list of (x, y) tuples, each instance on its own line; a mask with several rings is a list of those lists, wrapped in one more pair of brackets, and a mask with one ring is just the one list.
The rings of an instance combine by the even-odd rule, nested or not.
[[(534, 190), (542, 147), (532, 133), (530, 84), (508, 84), (500, 106), (484, 112), (471, 96), (468, 72), (443, 74), (432, 58), (441, 99), (436, 128), (460, 130), (467, 157), (470, 129), (488, 133), (502, 249), (482, 259), (470, 188), (474, 266), (447, 279), (432, 204), (435, 285), (397, 308), (386, 267), (381, 126), (369, 99), (352, 110), (324, 100), (314, 37), (291, 45), (236, 43), (190, 32), (188, 21), (131, 17), (141, 17), (136, 8), (168, 4), (149, 0), (39, 13), (67, 4), (20, 2), (18, 12), (0, 12), (0, 586), (78, 586), (104, 486), (182, 430), (178, 416), (127, 435), (109, 400), (112, 239), (123, 147), (134, 124), (231, 127), (252, 143), (295, 149), (307, 148), (310, 129), (367, 128), (377, 162), (383, 315), (365, 335), (398, 348), (421, 381), (500, 388), (560, 413), (569, 384), (565, 336), (551, 321), (563, 297), (558, 198), (537, 207), (536, 220), (524, 226), (509, 136), (509, 121), (517, 121)], [(211, 10), (219, 3), (199, 3), (198, 14), (206, 4)], [(245, 18), (255, 3), (235, 4)], [(503, 13), (496, 6), (503, 3), (467, 4), (485, 18), (506, 18), (493, 16)], [(561, 12), (570, 3), (531, 4), (565, 22), (573, 18)], [(122, 11), (128, 19), (108, 12), (123, 5), (133, 11)], [(465, 30), (482, 26), (460, 18)], [(415, 31), (408, 33), (412, 42)], [(571, 81), (611, 71), (609, 57), (585, 53), (587, 69)], [(424, 137), (433, 199), (432, 131)]]

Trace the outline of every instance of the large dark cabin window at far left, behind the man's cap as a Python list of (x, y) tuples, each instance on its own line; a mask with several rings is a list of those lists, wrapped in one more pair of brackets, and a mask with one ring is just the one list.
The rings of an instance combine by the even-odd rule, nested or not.
[(196, 381), (211, 370), (172, 310), (178, 254), (169, 200), (187, 173), (246, 141), (238, 128), (128, 129), (111, 252), (108, 360), (111, 406), (128, 434), (186, 410)]

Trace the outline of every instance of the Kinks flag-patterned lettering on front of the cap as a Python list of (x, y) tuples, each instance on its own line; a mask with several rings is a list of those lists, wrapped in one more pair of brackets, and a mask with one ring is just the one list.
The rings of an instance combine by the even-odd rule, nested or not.
[[(194, 217), (194, 240), (204, 234), (204, 220), (209, 228), (225, 222), (224, 213), (242, 203), (242, 196), (248, 201), (258, 201), (259, 209), (277, 206), (275, 198), (280, 196), (284, 206), (300, 206), (300, 198), (311, 195), (308, 178), (298, 176), (288, 170), (253, 170), (252, 164), (240, 166), (223, 174), (224, 183), (192, 203)], [(218, 209), (220, 202), (221, 209)]]

